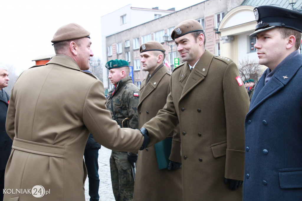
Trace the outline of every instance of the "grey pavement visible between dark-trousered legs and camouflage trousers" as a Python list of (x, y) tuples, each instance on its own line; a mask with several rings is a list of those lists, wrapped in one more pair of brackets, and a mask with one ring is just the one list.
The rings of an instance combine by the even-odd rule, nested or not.
[[(98, 151), (98, 175), (100, 177), (100, 187), (98, 194), (100, 195), (100, 201), (115, 201), (112, 192), (111, 175), (109, 158), (111, 155), (111, 149), (104, 146)], [(85, 181), (85, 201), (89, 201), (90, 196), (88, 194), (88, 177)]]

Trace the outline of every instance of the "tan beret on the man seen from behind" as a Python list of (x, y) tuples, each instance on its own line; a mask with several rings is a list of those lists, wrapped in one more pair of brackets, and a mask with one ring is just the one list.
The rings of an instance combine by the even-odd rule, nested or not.
[(51, 42), (54, 44), (64, 40), (73, 40), (84, 37), (90, 38), (89, 35), (90, 33), (79, 24), (70, 23), (60, 27), (55, 35), (53, 35), (53, 40), (51, 40)]

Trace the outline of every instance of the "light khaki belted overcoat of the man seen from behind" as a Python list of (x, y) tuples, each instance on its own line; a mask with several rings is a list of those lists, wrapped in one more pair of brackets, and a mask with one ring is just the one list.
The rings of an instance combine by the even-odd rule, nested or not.
[(41, 185), (50, 194), (5, 194), (4, 200), (83, 201), (87, 176), (83, 161), (91, 132), (101, 145), (138, 150), (143, 136), (120, 129), (105, 107), (104, 88), (76, 62), (58, 54), (46, 66), (24, 71), (8, 106), (6, 130), (13, 139), (5, 172), (5, 189)]

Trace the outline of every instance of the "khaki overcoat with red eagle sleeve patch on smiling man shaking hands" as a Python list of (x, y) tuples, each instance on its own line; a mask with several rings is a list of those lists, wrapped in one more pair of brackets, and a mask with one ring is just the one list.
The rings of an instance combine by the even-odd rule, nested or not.
[(143, 127), (151, 144), (179, 120), (184, 201), (239, 201), (224, 178), (243, 180), (244, 119), (249, 97), (236, 64), (204, 52), (192, 72), (185, 62), (171, 75), (167, 104)]

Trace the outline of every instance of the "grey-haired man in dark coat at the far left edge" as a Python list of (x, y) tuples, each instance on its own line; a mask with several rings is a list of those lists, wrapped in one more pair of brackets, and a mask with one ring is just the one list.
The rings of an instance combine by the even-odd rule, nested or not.
[[(11, 154), (13, 141), (5, 131), (6, 113), (9, 103), (9, 95), (3, 90), (8, 85), (8, 68), (0, 65), (0, 190), (4, 189), (4, 173), (8, 157)], [(3, 193), (0, 193), (0, 200), (3, 200)]]

